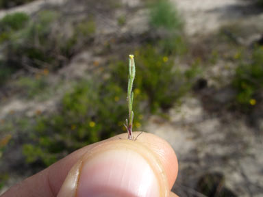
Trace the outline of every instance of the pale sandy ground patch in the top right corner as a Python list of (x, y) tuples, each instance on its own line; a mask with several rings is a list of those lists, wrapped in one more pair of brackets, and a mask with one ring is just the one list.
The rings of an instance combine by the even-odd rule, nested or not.
[[(185, 21), (186, 34), (210, 34), (222, 25), (235, 21), (258, 23), (263, 14), (252, 5), (253, 1), (242, 0), (172, 0), (181, 11)], [(263, 24), (257, 24), (263, 25)]]

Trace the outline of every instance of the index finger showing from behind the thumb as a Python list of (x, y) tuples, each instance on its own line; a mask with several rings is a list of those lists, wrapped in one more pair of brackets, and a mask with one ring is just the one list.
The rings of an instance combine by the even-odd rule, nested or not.
[[(137, 136), (138, 133), (139, 132), (134, 132), (134, 135)], [(118, 140), (120, 139), (127, 139), (127, 133), (116, 135), (108, 140), (103, 140), (101, 142), (85, 146), (84, 148), (80, 148), (79, 150), (76, 150), (70, 155), (64, 157), (57, 163), (54, 163), (52, 166), (49, 166), (49, 168), (42, 170), (34, 176), (30, 176), (29, 178), (25, 179), (25, 181), (22, 181), (17, 185), (14, 185), (1, 197), (57, 196), (69, 170), (71, 170), (71, 168), (75, 165), (75, 163), (77, 163), (77, 161), (79, 161), (79, 159), (82, 159), (82, 157), (92, 148), (99, 146), (103, 148), (103, 145), (106, 144), (106, 142), (115, 140), (114, 143), (118, 143)], [(155, 157), (159, 159), (164, 172), (166, 172), (168, 188), (171, 189), (175, 183), (178, 172), (177, 157), (173, 151), (173, 148), (171, 148), (171, 146), (162, 138), (151, 133), (142, 133), (136, 142), (141, 143), (143, 146), (147, 146), (147, 148), (153, 152)], [(136, 151), (140, 152), (140, 150)], [(170, 196), (175, 197), (177, 195), (171, 192)]]

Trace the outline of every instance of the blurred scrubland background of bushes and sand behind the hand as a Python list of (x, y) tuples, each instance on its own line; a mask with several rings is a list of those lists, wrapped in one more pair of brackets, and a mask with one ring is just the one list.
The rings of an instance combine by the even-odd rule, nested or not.
[(0, 194), (134, 127), (166, 139), (179, 196), (263, 196), (262, 0), (0, 0)]

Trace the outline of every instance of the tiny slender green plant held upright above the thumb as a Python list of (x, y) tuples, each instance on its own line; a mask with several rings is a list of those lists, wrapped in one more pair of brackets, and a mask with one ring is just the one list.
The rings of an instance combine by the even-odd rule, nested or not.
[(128, 81), (128, 90), (127, 90), (127, 101), (129, 107), (129, 120), (126, 119), (125, 127), (128, 132), (128, 139), (133, 140), (132, 136), (132, 122), (134, 120), (134, 111), (132, 111), (132, 104), (134, 102), (134, 92), (132, 92), (132, 86), (135, 78), (135, 63), (134, 55), (129, 55), (129, 81)]

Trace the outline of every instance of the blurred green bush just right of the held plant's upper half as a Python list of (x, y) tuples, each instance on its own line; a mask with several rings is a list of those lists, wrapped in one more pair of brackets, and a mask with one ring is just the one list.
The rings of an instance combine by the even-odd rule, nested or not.
[[(186, 72), (181, 71), (174, 66), (174, 57), (169, 57), (159, 51), (158, 47), (151, 45), (138, 49), (135, 55), (136, 70), (140, 74), (136, 75), (134, 93), (136, 94), (137, 90), (141, 94), (140, 99), (147, 98), (152, 112), (159, 108), (168, 109), (179, 101), (181, 96), (190, 90), (198, 72), (196, 67)], [(118, 62), (112, 64), (111, 68), (114, 80), (118, 81), (123, 90), (127, 87), (126, 64)]]

